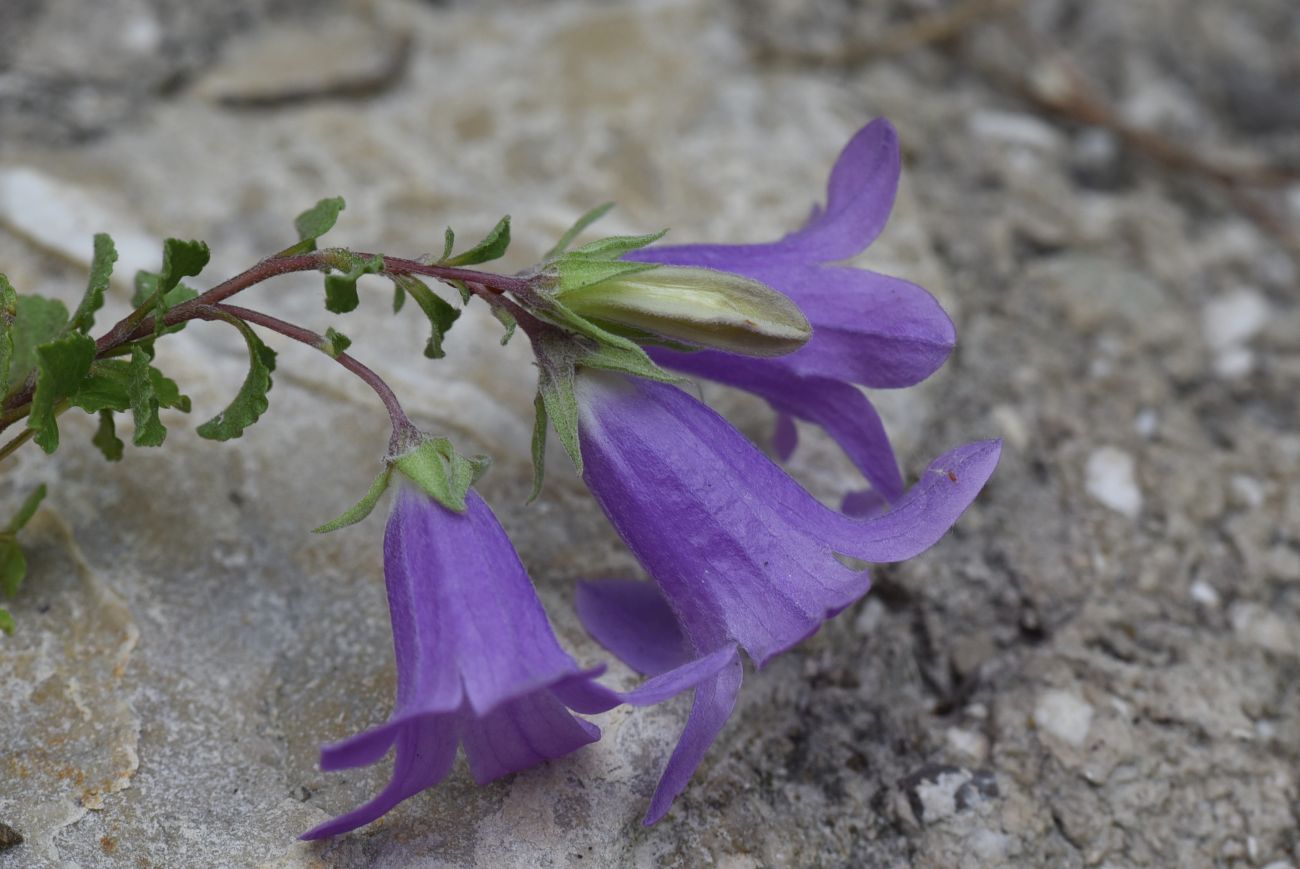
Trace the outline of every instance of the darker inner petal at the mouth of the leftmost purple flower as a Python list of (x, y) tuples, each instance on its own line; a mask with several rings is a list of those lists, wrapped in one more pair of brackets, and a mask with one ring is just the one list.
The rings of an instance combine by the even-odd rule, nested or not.
[(550, 691), (504, 702), (465, 722), (462, 732), (469, 773), (478, 784), (563, 757), (599, 738), (599, 727), (571, 715)]

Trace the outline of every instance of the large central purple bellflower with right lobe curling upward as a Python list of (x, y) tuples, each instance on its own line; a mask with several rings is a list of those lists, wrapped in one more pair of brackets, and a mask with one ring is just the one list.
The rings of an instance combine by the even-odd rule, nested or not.
[(763, 666), (864, 595), (867, 572), (836, 554), (894, 562), (933, 545), (988, 480), (1001, 444), (939, 457), (887, 513), (854, 519), (820, 503), (676, 386), (593, 372), (576, 385), (584, 480), (658, 585), (585, 584), (578, 615), (647, 675), (710, 660), (697, 667), (703, 678), (646, 814), (653, 823), (731, 714), (738, 649)]

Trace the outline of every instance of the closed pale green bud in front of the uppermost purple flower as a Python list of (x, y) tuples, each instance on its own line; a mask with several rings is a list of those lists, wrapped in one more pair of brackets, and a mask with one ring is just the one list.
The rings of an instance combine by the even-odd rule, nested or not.
[(758, 281), (707, 268), (659, 265), (564, 290), (568, 310), (610, 327), (748, 356), (802, 347), (812, 327), (798, 306)]

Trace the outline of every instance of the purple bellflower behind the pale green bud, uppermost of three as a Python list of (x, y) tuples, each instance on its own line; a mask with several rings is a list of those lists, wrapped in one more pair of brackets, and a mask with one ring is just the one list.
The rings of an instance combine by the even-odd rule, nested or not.
[(952, 353), (953, 324), (930, 293), (897, 277), (829, 265), (855, 256), (884, 228), (898, 187), (898, 137), (883, 118), (854, 135), (802, 229), (763, 245), (647, 247), (628, 259), (698, 265), (766, 284), (794, 301), (812, 324), (800, 350), (774, 359), (722, 350), (654, 349), (659, 364), (753, 392), (777, 412), (776, 449), (796, 446), (790, 418), (823, 427), (885, 501), (902, 494), (902, 475), (880, 416), (853, 384), (911, 386)]

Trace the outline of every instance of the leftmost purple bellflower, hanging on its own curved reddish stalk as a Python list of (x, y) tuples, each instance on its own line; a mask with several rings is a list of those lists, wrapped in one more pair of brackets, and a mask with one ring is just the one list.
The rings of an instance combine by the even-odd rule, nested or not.
[(354, 830), (433, 787), (458, 744), (485, 784), (599, 739), (560, 693), (603, 667), (584, 671), (560, 648), (504, 529), (473, 489), (465, 503), (452, 513), (408, 485), (396, 496), (384, 539), (396, 705), (386, 723), (321, 749), (321, 769), (339, 770), (395, 745), (393, 779), (304, 839)]

